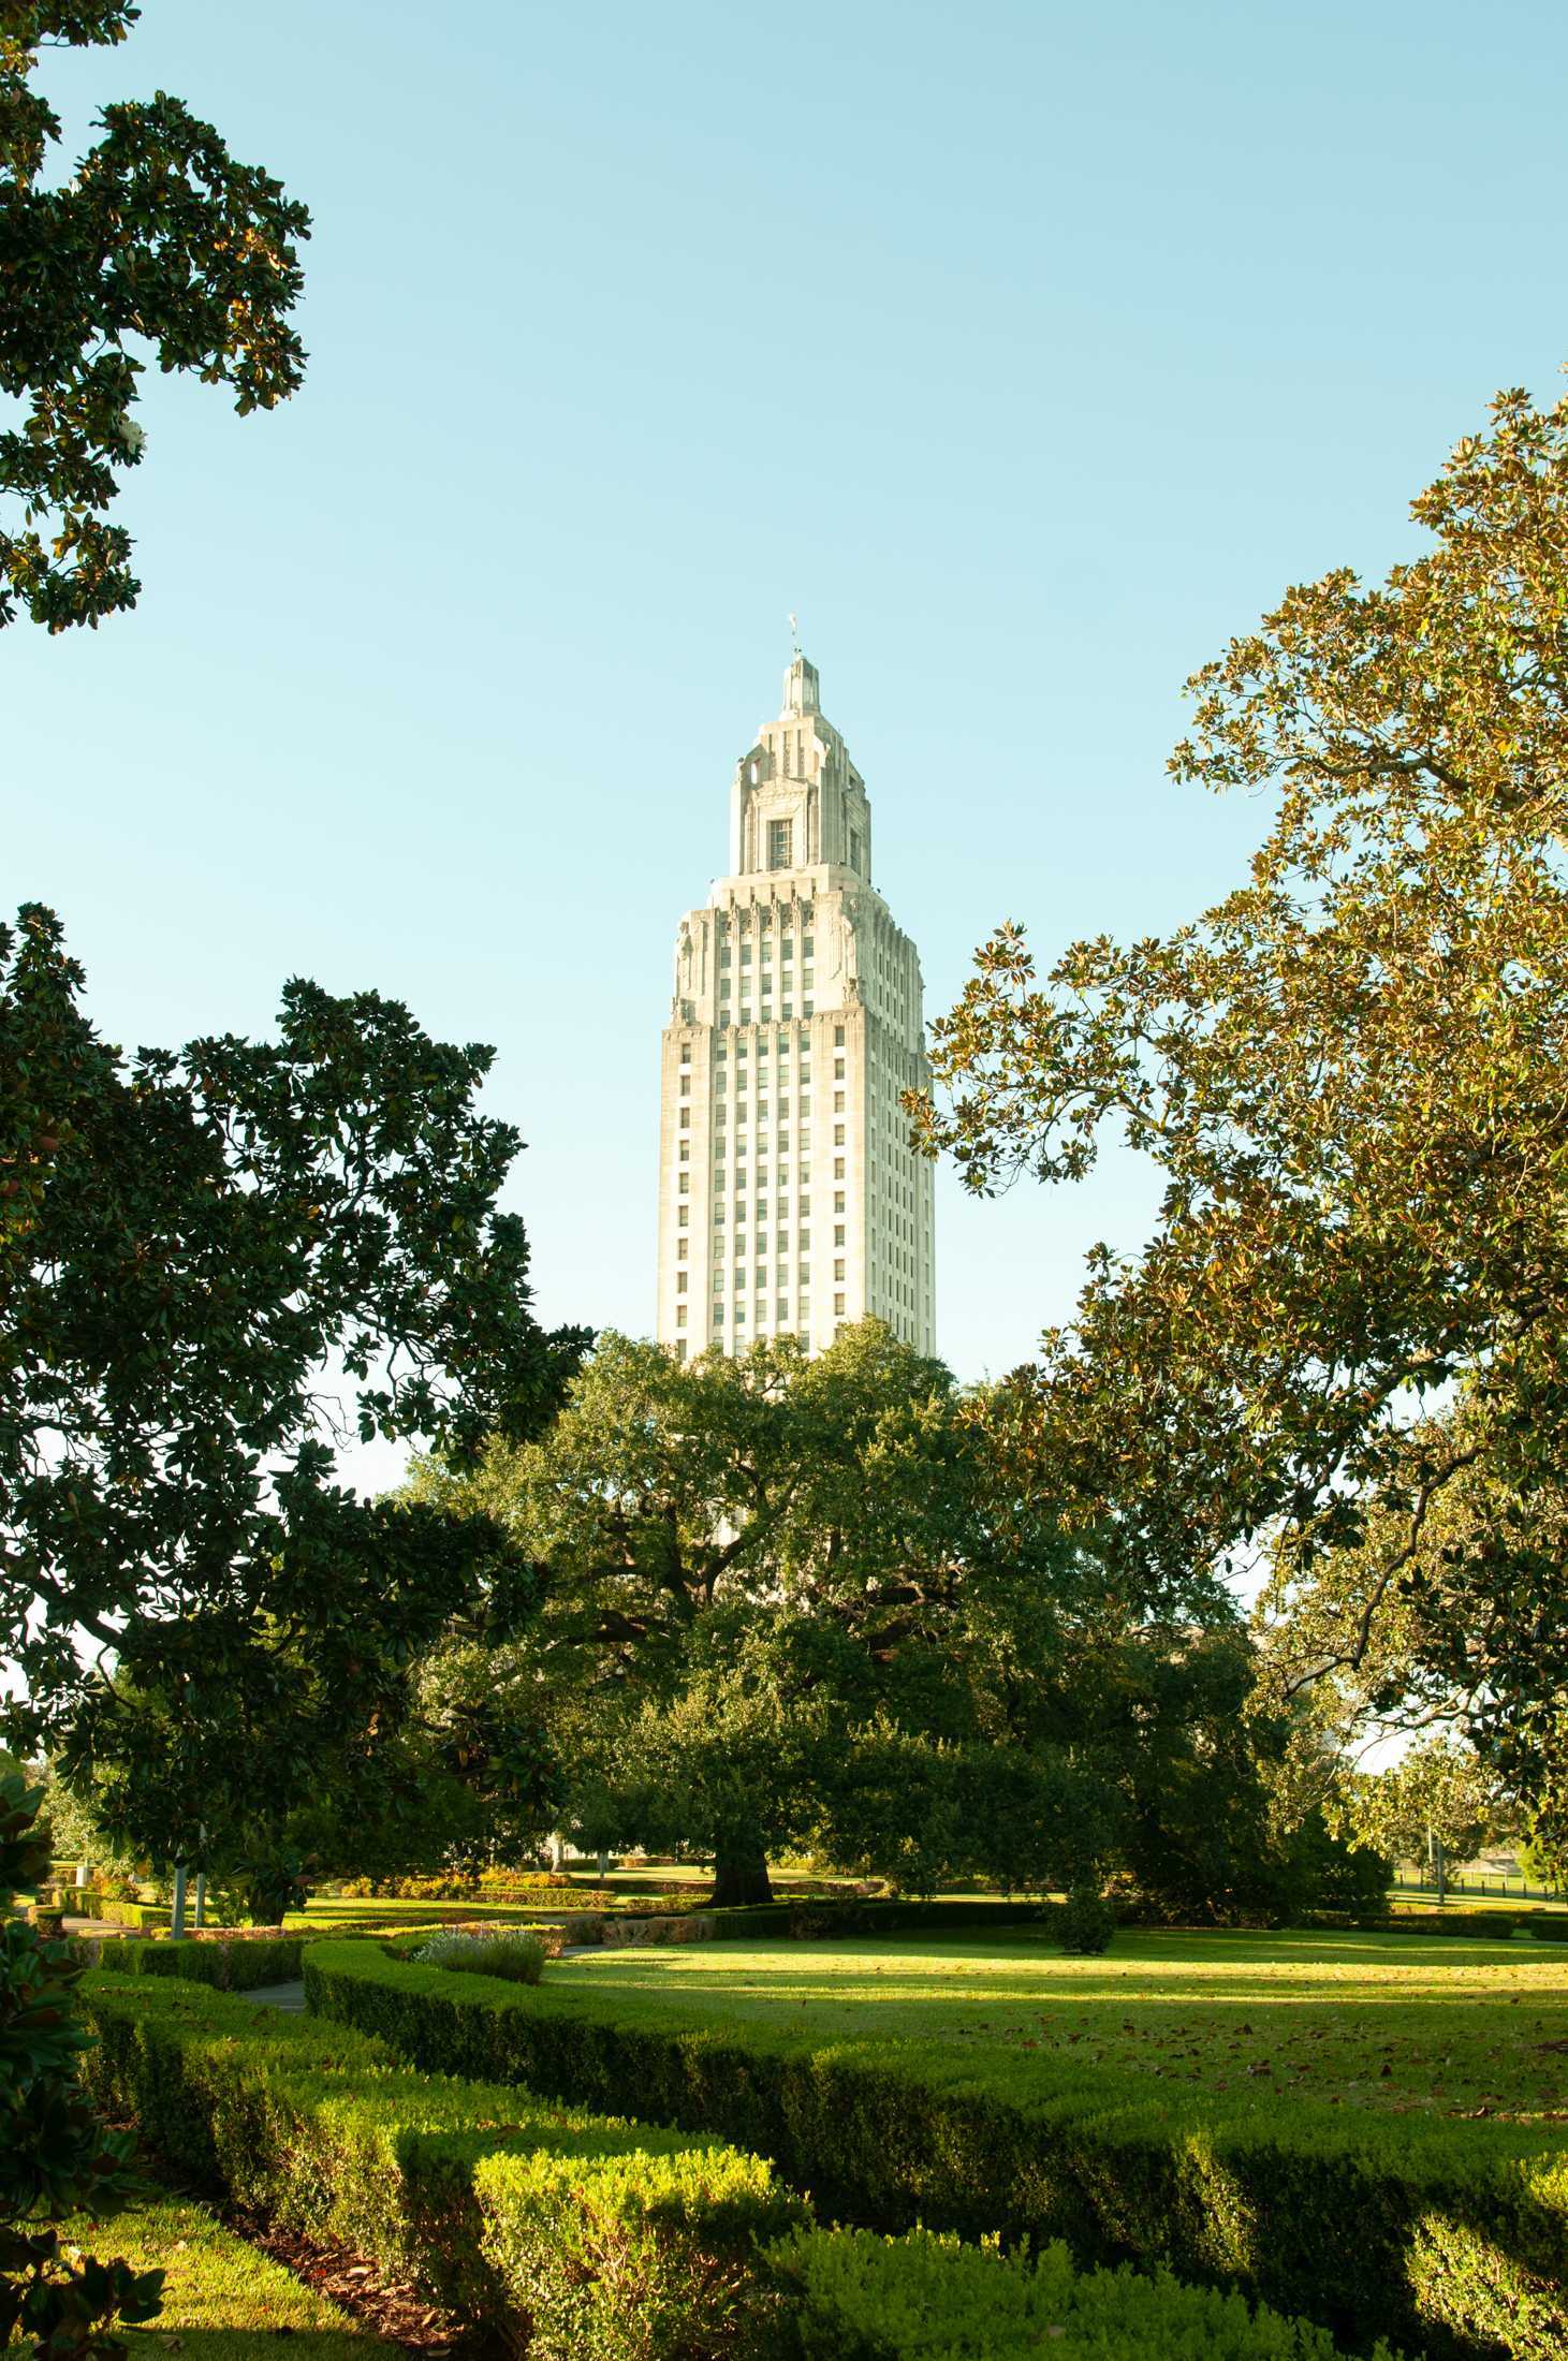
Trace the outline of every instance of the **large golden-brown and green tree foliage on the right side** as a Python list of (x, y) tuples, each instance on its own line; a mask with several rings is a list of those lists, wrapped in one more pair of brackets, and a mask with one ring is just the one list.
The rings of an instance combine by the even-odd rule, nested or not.
[[(1339, 1561), (1353, 1608), (1292, 1679), (1381, 1660), (1469, 1698), (1540, 1792), (1568, 1700), (1540, 1546), (1568, 1499), (1568, 404), (1502, 394), (1415, 519), (1384, 586), (1289, 590), (1193, 680), (1171, 770), (1270, 796), (1252, 878), (1044, 975), (1004, 928), (916, 1119), (982, 1192), (1077, 1180), (1105, 1131), (1164, 1176), (1150, 1247), (1093, 1254), (1011, 1388), (1067, 1520), (1143, 1582), (1252, 1544), (1292, 1596)], [(1459, 1542), (1466, 1485), (1507, 1513)]]

